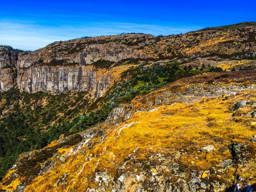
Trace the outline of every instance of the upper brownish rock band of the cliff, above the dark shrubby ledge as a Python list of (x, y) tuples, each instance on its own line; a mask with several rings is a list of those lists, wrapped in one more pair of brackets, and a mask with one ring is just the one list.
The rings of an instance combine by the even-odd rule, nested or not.
[(72, 63), (90, 65), (98, 60), (118, 62), (129, 58), (143, 59), (145, 57), (134, 51), (133, 46), (126, 45), (127, 42), (133, 41), (136, 44), (139, 41), (137, 38), (146, 40), (154, 37), (146, 34), (114, 35), (55, 42), (43, 49), (23, 55), (18, 61), (18, 66), (26, 68), (34, 65), (40, 59), (49, 65), (54, 59), (60, 61), (60, 64), (65, 62), (67, 65), (72, 65)]

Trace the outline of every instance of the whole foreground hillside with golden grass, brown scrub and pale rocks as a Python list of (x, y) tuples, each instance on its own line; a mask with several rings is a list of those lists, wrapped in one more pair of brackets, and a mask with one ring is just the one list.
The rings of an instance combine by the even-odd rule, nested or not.
[[(255, 77), (255, 70), (198, 75), (137, 97), (132, 103), (138, 106), (130, 108), (139, 110), (131, 110), (127, 120), (62, 137), (42, 150), (20, 155), (0, 187), (16, 191), (253, 191)], [(207, 85), (212, 85), (212, 92)], [(140, 107), (159, 95), (171, 99), (173, 94), (175, 103), (163, 100), (152, 102), (150, 108)], [(121, 110), (113, 113), (109, 121)]]

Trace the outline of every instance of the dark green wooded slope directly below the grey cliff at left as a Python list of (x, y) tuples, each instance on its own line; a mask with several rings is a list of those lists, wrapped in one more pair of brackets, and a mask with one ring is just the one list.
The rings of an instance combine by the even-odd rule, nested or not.
[[(69, 123), (88, 104), (86, 92), (0, 92), (0, 178), (17, 156), (55, 139), (54, 126)], [(62, 132), (61, 132), (62, 133)]]

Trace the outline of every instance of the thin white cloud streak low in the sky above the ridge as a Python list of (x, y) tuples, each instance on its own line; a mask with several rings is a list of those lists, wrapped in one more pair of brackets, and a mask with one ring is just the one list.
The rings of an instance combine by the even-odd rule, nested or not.
[(67, 41), (82, 36), (116, 35), (120, 33), (146, 33), (170, 35), (198, 30), (198, 26), (160, 26), (139, 23), (93, 22), (77, 27), (49, 27), (33, 23), (0, 20), (0, 44), (15, 49), (36, 50), (54, 41)]

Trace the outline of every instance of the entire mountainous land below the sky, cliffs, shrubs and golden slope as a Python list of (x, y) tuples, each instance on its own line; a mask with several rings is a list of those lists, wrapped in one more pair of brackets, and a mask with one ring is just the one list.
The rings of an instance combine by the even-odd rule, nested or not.
[(0, 47), (0, 191), (256, 191), (254, 25)]

